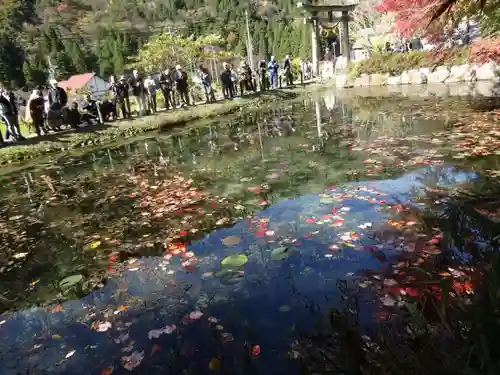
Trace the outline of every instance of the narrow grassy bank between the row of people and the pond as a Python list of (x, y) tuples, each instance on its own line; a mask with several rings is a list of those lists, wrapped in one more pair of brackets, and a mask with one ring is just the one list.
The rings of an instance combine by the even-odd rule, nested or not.
[[(231, 113), (259, 109), (266, 103), (275, 100), (287, 100), (299, 95), (320, 89), (318, 84), (297, 86), (290, 89), (274, 90), (249, 95), (237, 100), (220, 101), (210, 105), (198, 105), (170, 112), (160, 112), (154, 116), (119, 121), (94, 127), (85, 127), (72, 131), (50, 134), (43, 137), (30, 138), (27, 141), (0, 149), (0, 164), (10, 164), (30, 160), (42, 155), (56, 154), (92, 146), (103, 146), (160, 129), (183, 126), (187, 122), (209, 119)], [(325, 86), (323, 86), (325, 87)]]

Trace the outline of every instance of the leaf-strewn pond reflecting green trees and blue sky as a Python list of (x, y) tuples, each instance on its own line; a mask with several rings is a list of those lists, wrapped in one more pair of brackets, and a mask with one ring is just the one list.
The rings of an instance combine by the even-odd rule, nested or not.
[(298, 373), (339, 283), (413, 251), (390, 207), (496, 169), (487, 123), (478, 145), (390, 104), (307, 97), (3, 176), (2, 373)]

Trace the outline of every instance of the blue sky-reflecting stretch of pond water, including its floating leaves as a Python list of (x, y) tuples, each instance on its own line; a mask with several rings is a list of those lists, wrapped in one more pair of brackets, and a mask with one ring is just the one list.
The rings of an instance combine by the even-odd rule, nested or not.
[[(161, 257), (117, 265), (118, 276), (80, 300), (6, 314), (2, 373), (297, 373), (290, 341), (314, 326), (314, 311), (341, 304), (336, 282), (411, 251), (380, 236), (396, 216), (384, 207), (409, 203), (434, 175), (438, 186), (475, 177), (425, 168), (282, 200)], [(360, 295), (366, 323), (377, 308), (369, 293)]]

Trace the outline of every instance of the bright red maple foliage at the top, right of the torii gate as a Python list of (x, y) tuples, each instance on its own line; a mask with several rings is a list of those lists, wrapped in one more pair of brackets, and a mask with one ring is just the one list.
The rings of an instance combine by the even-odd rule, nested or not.
[(442, 20), (431, 20), (442, 6), (442, 0), (382, 0), (375, 10), (394, 13), (395, 31), (403, 37), (425, 35), (433, 39), (443, 32)]

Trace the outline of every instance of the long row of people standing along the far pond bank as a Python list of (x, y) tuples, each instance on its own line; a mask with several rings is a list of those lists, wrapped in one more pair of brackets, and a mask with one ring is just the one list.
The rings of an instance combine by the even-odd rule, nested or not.
[[(309, 68), (310, 64), (306, 61), (301, 63), (300, 70), (304, 77), (308, 76)], [(287, 86), (293, 84), (289, 56), (285, 57), (282, 64), (274, 56), (268, 62), (260, 61), (255, 74), (245, 61), (238, 68), (224, 62), (218, 78), (223, 97), (232, 99), (257, 91), (257, 84), (261, 91), (278, 88), (281, 77)], [(78, 128), (118, 118), (131, 118), (132, 98), (137, 116), (153, 114), (158, 110), (158, 92), (162, 94), (166, 110), (189, 106), (194, 104), (190, 87), (193, 84), (201, 86), (206, 103), (216, 101), (213, 77), (203, 65), (198, 67), (192, 80), (189, 80), (187, 72), (180, 65), (175, 69), (165, 69), (156, 77), (143, 75), (137, 69), (132, 71), (130, 77), (122, 75), (117, 79), (111, 76), (110, 100), (96, 101), (91, 95), (85, 95), (80, 104), (76, 101), (68, 103), (68, 93), (58, 86), (55, 79), (51, 79), (49, 84), (45, 95), (41, 87), (33, 90), (26, 104), (25, 121), (31, 124), (38, 136), (51, 131), (58, 132), (63, 126)], [(0, 115), (6, 126), (5, 139), (24, 140), (19, 127), (19, 102), (6, 87), (0, 87)], [(3, 143), (4, 138), (0, 133), (0, 144)]]

